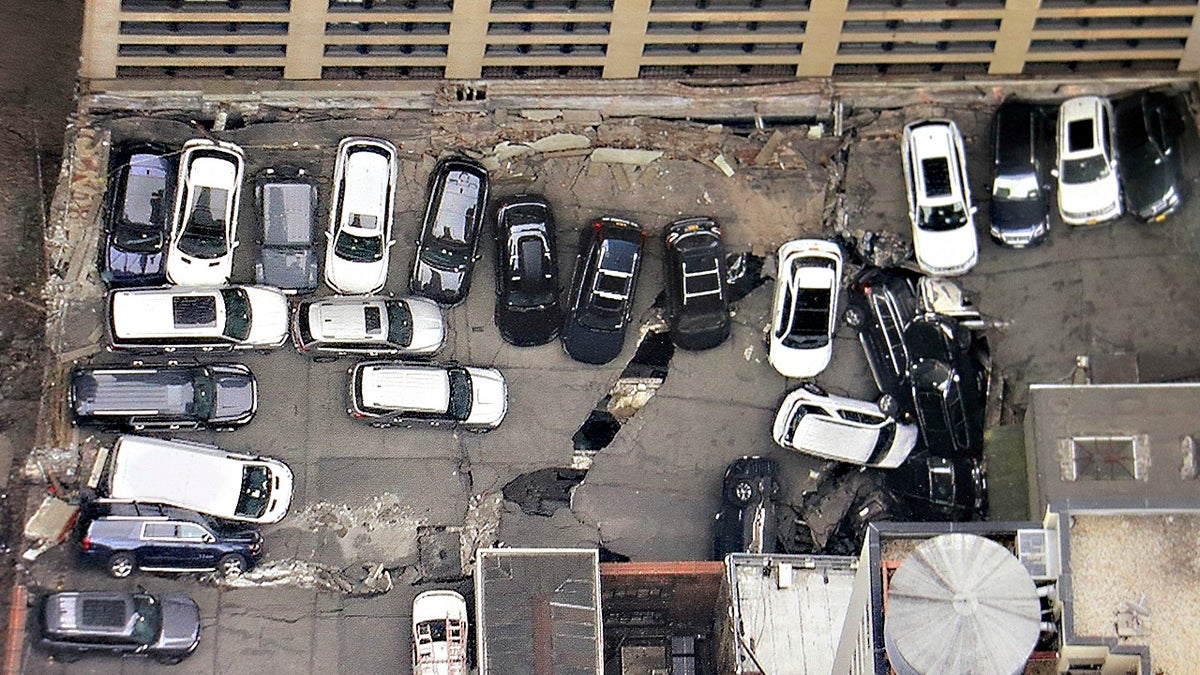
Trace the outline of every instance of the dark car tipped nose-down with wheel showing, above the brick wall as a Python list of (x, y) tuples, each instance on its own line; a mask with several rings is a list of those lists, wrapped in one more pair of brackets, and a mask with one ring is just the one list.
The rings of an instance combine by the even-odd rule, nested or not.
[(779, 465), (775, 460), (746, 456), (725, 470), (721, 510), (713, 530), (713, 557), (734, 552), (773, 554), (778, 548)]

